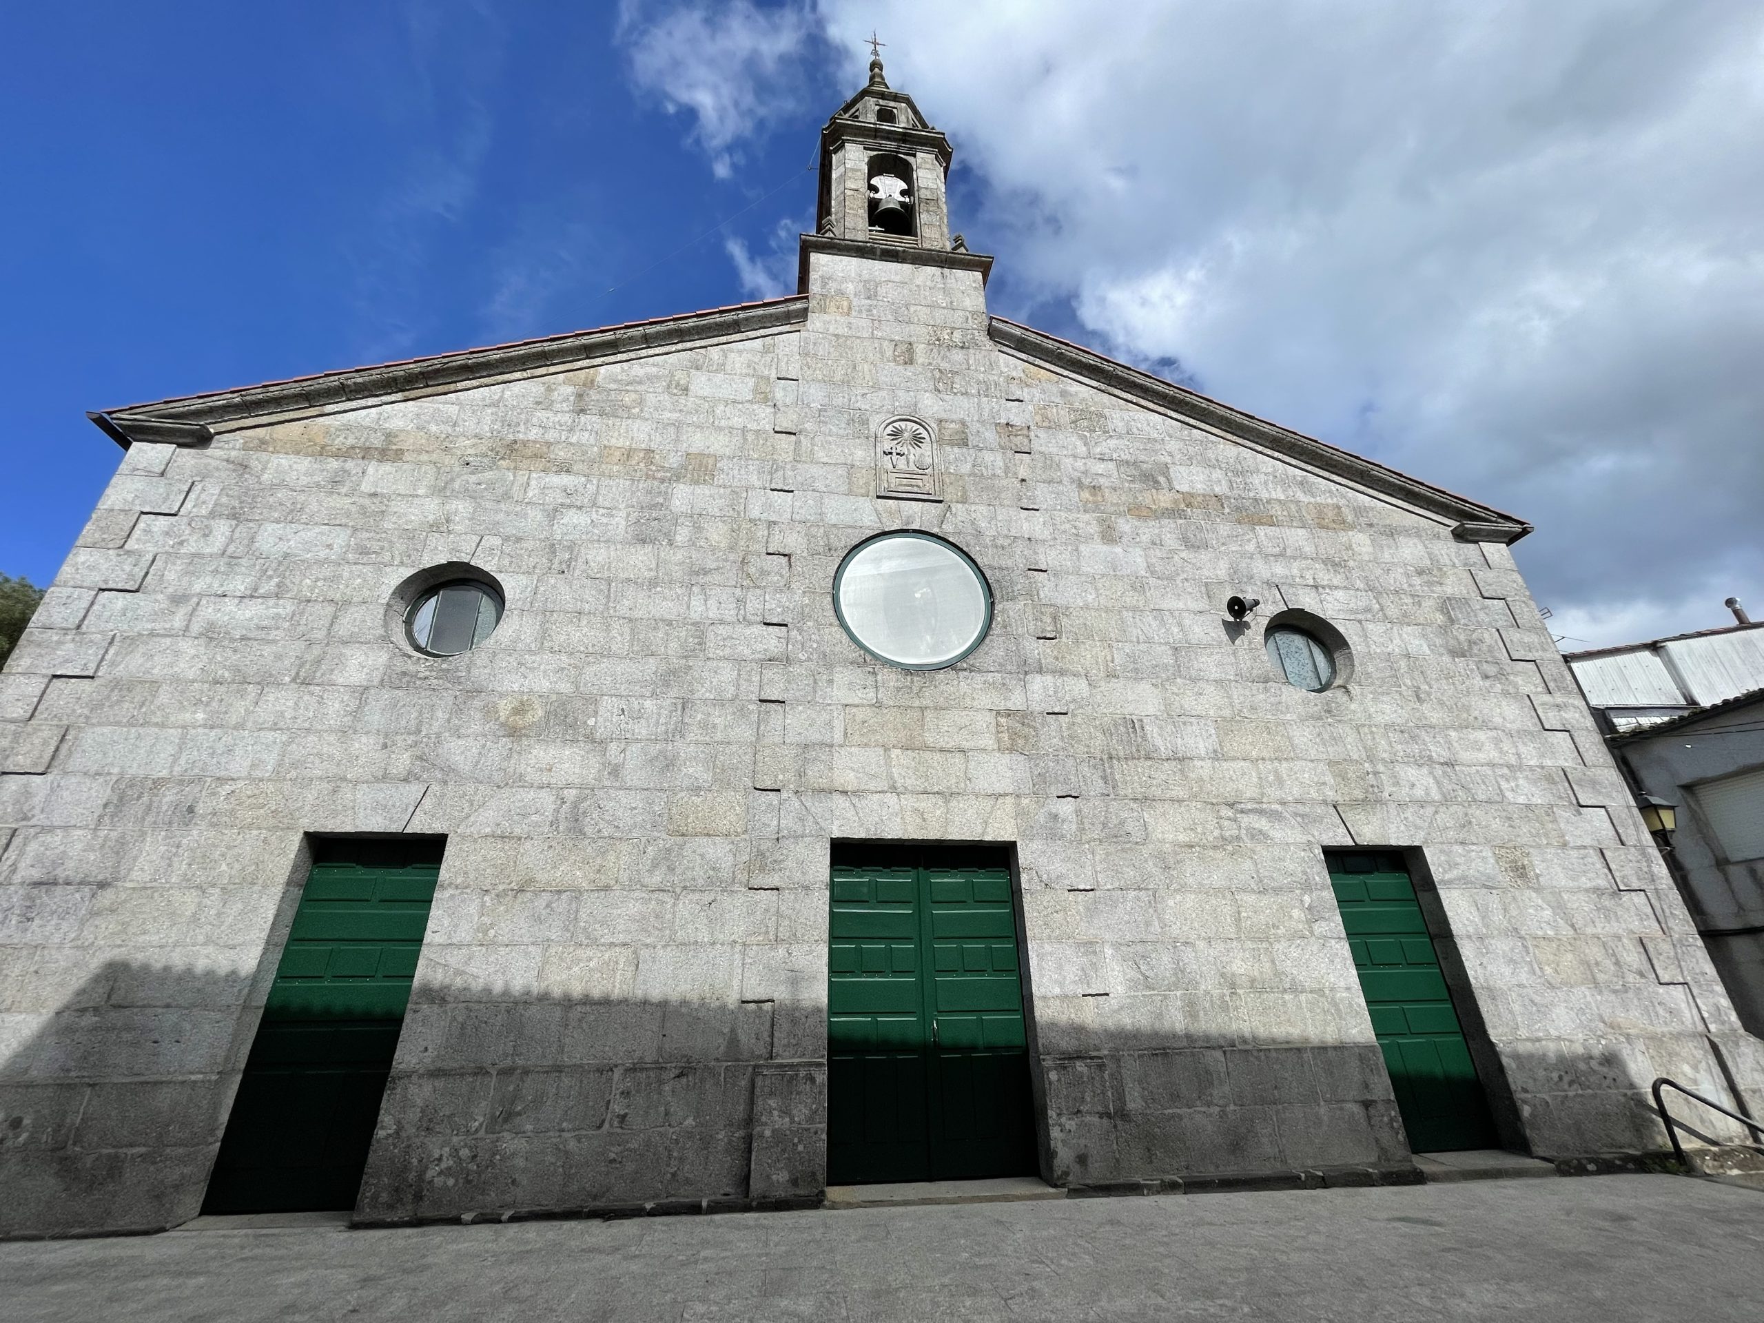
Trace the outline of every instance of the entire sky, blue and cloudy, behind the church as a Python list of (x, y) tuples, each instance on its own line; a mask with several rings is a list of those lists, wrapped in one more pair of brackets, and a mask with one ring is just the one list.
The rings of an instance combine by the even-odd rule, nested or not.
[(48, 9), (0, 572), (115, 464), (83, 409), (785, 291), (875, 26), (997, 312), (1529, 519), (1566, 647), (1764, 609), (1753, 0)]

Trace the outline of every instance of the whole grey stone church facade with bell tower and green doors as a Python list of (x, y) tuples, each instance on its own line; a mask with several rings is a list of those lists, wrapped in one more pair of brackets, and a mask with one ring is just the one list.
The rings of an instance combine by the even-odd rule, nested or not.
[[(120, 471), (0, 677), (7, 1233), (222, 1168), (288, 1207), (349, 1124), (399, 1222), (981, 1152), (1364, 1184), (1441, 1115), (1575, 1159), (1660, 1150), (1660, 1074), (1764, 1106), (1528, 526), (990, 316), (947, 166), (877, 64), (797, 296), (93, 416)], [(984, 607), (951, 665), (864, 633), (919, 628), (859, 591), (887, 533)]]

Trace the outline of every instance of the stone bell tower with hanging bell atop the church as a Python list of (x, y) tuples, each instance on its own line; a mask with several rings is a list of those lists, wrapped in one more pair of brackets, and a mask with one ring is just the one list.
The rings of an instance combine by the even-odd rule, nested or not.
[(887, 85), (882, 56), (871, 51), (870, 83), (820, 131), (820, 198), (815, 233), (803, 236), (803, 291), (811, 252), (961, 266), (984, 277), (991, 258), (968, 252), (961, 235), (949, 233), (951, 157), (949, 139), (912, 97)]

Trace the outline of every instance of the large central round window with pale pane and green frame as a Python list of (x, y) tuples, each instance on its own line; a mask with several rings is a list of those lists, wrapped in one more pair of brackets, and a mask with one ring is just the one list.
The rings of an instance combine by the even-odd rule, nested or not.
[(833, 610), (870, 656), (935, 670), (991, 628), (991, 586), (960, 547), (930, 533), (882, 533), (852, 547), (833, 577)]

